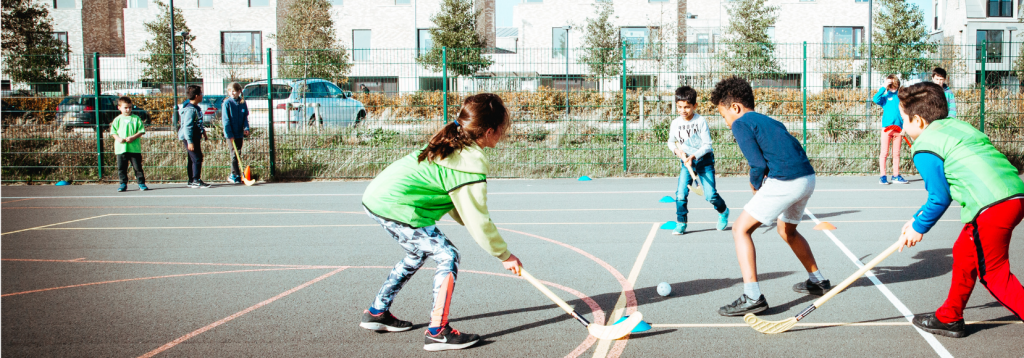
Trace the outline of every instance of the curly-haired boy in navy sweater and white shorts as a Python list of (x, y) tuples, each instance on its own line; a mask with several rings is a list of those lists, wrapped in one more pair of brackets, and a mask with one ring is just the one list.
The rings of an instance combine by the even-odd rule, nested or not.
[(743, 275), (743, 295), (718, 310), (723, 316), (742, 316), (768, 309), (768, 301), (758, 284), (754, 240), (751, 234), (778, 219), (778, 234), (790, 244), (804, 269), (806, 281), (793, 289), (802, 294), (824, 295), (831, 284), (818, 271), (811, 247), (797, 231), (804, 208), (814, 192), (814, 168), (797, 138), (778, 121), (754, 111), (754, 90), (738, 77), (722, 80), (711, 95), (726, 125), (732, 129), (740, 151), (751, 166), (754, 197), (743, 206), (743, 213), (732, 223), (739, 270)]

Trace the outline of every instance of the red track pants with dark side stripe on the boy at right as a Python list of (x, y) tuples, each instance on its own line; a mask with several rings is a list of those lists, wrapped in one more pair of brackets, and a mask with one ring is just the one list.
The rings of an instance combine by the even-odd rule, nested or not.
[(949, 296), (935, 312), (944, 323), (964, 319), (964, 307), (980, 279), (1002, 306), (1024, 316), (1024, 286), (1010, 272), (1008, 251), (1014, 227), (1024, 218), (1024, 198), (988, 208), (961, 231), (953, 243), (953, 279)]

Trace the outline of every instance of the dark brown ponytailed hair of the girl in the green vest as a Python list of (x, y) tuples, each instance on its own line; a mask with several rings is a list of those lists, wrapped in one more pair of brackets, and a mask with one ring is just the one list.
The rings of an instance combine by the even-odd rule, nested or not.
[(502, 97), (494, 93), (466, 97), (456, 120), (430, 137), (427, 147), (420, 152), (419, 162), (443, 160), (456, 150), (473, 145), (488, 129), (504, 134), (511, 126), (512, 120)]

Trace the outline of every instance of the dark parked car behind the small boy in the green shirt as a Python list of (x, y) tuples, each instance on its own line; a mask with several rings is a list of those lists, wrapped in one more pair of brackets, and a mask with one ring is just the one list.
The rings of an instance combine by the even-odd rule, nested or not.
[[(75, 127), (96, 127), (96, 102), (94, 96), (67, 96), (57, 104), (57, 121), (65, 130)], [(150, 124), (150, 113), (137, 105), (132, 106), (132, 115), (138, 116), (142, 123)], [(121, 116), (118, 110), (118, 96), (99, 96), (99, 124), (105, 131), (111, 122)]]

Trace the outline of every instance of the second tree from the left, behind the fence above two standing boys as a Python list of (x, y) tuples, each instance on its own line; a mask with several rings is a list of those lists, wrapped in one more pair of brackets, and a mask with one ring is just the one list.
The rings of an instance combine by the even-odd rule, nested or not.
[[(145, 64), (142, 70), (142, 78), (151, 82), (170, 83), (171, 82), (171, 14), (170, 7), (163, 1), (155, 0), (155, 4), (160, 9), (156, 19), (145, 23), (142, 26), (151, 38), (142, 45), (142, 51), (148, 56), (142, 57), (141, 62)], [(181, 14), (181, 9), (174, 8), (174, 32), (191, 33), (185, 24), (185, 16)], [(195, 82), (200, 78), (201, 73), (196, 64), (196, 41), (195, 35), (177, 36), (174, 41), (174, 65), (177, 69), (176, 79), (183, 82)]]

